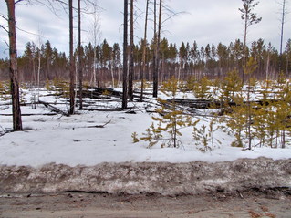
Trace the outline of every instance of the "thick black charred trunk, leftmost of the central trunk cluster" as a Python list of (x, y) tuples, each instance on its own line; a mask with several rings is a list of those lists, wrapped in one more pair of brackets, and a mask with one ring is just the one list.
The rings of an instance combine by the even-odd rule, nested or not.
[(124, 0), (122, 109), (128, 107), (128, 0)]

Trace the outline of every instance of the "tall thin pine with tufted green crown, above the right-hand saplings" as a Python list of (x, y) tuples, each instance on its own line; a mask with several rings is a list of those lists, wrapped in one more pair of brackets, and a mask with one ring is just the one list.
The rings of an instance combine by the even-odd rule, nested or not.
[[(243, 1), (243, 8), (239, 8), (241, 12), (241, 18), (244, 20), (244, 67), (246, 67), (246, 38), (248, 33), (248, 28), (252, 25), (258, 24), (262, 17), (258, 17), (253, 11), (256, 5), (259, 2), (255, 2), (255, 0), (242, 0)], [(243, 83), (244, 83), (244, 72), (243, 72)]]

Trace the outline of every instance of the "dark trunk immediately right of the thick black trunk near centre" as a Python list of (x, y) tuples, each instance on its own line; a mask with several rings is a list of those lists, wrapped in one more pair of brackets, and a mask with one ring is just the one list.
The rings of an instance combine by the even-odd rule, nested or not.
[(133, 0), (130, 0), (130, 71), (129, 71), (129, 97), (130, 101), (133, 100)]

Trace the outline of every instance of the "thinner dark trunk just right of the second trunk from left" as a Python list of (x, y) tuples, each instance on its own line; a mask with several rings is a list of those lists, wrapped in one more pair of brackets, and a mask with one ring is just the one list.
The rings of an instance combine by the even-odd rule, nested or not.
[(83, 71), (81, 54), (81, 0), (78, 0), (78, 97), (79, 109), (83, 109)]

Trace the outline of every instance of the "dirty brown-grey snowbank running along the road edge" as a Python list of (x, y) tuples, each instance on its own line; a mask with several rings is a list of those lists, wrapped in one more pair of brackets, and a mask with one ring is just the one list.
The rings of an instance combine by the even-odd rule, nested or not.
[(209, 163), (124, 162), (70, 167), (0, 165), (0, 192), (161, 193), (237, 192), (291, 188), (291, 159), (239, 159)]

